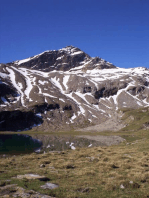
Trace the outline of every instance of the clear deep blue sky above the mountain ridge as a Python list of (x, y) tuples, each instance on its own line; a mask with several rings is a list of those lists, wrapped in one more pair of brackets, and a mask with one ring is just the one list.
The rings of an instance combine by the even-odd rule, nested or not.
[(0, 63), (68, 45), (149, 68), (149, 1), (0, 0)]

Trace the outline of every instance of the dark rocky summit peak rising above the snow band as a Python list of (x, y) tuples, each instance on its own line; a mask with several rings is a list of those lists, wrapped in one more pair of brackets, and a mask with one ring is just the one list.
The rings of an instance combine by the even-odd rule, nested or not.
[(69, 71), (70, 69), (91, 70), (110, 69), (115, 66), (99, 57), (92, 58), (82, 50), (74, 46), (66, 46), (59, 50), (48, 50), (36, 56), (15, 61), (16, 66), (40, 71)]

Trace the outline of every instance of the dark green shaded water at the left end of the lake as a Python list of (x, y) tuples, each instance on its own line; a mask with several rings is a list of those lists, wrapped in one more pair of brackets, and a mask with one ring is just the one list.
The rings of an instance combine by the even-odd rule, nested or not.
[(0, 134), (0, 154), (27, 154), (41, 146), (41, 141), (28, 135)]

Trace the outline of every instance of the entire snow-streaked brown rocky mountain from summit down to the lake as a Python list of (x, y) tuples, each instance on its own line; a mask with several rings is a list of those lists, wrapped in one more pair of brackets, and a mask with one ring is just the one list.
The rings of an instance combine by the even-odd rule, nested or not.
[(0, 130), (76, 129), (149, 105), (149, 70), (122, 69), (79, 48), (0, 64)]

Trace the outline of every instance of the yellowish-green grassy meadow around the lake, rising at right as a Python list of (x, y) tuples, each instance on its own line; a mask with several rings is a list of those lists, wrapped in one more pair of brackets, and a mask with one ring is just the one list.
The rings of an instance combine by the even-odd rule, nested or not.
[[(57, 198), (149, 197), (149, 109), (125, 110), (124, 113), (122, 119), (127, 126), (119, 132), (81, 133), (120, 135), (126, 139), (123, 143), (1, 158), (1, 185), (7, 185), (5, 181), (11, 179), (11, 184)], [(57, 133), (63, 134), (66, 135)], [(43, 190), (40, 186), (44, 181), (12, 179), (27, 173), (44, 175), (59, 187)]]

